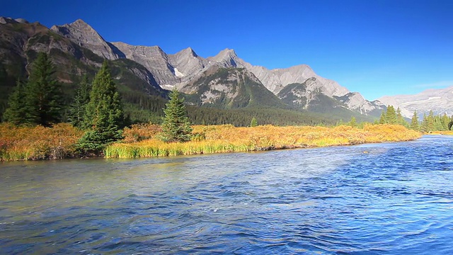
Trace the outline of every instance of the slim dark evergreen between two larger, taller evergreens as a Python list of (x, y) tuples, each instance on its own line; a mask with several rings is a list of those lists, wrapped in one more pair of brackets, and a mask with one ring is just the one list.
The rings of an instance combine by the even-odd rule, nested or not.
[[(69, 121), (74, 127), (89, 128), (85, 120), (86, 106), (90, 102), (91, 84), (88, 83), (88, 77), (84, 75), (76, 91), (74, 102), (69, 108)], [(84, 126), (85, 124), (85, 126)]]

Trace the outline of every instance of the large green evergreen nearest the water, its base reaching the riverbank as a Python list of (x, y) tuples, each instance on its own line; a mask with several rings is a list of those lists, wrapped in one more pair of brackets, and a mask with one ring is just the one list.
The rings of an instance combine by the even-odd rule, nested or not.
[(91, 130), (79, 140), (79, 149), (99, 154), (105, 145), (121, 140), (123, 120), (120, 95), (105, 61), (93, 80), (90, 101), (86, 105), (86, 115), (82, 123)]

